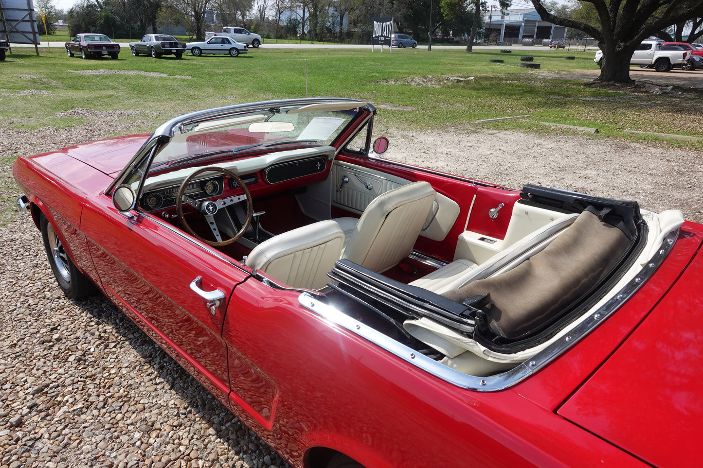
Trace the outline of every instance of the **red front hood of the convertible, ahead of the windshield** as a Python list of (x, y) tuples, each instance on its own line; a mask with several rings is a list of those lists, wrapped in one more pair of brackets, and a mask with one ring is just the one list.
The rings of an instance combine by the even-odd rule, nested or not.
[(127, 135), (61, 148), (70, 157), (108, 176), (115, 176), (131, 160), (149, 135)]

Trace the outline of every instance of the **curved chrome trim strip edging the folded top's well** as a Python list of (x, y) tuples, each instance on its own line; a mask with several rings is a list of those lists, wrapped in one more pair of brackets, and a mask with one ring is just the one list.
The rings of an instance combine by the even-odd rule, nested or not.
[(562, 337), (562, 339), (557, 340), (550, 346), (547, 346), (543, 351), (536, 353), (532, 358), (526, 360), (524, 363), (517, 365), (517, 367), (503, 372), (502, 374), (494, 375), (491, 377), (477, 377), (475, 375), (466, 375), (458, 370), (453, 370), (446, 365), (440, 364), (436, 360), (428, 358), (427, 356), (417, 353), (415, 350), (396, 342), (396, 340), (382, 334), (378, 330), (375, 330), (368, 325), (359, 322), (358, 320), (347, 316), (347, 314), (342, 311), (337, 310), (337, 308), (330, 306), (330, 304), (325, 304), (318, 301), (311, 295), (307, 293), (300, 294), (298, 302), (304, 308), (309, 311), (317, 313), (319, 316), (330, 321), (335, 325), (343, 327), (349, 332), (359, 335), (363, 339), (366, 339), (373, 344), (380, 346), (389, 353), (401, 358), (406, 363), (413, 365), (416, 368), (424, 370), (425, 372), (434, 375), (444, 382), (458, 386), (463, 389), (480, 391), (480, 392), (491, 392), (491, 391), (501, 391), (514, 386), (515, 384), (522, 382), (534, 372), (541, 370), (546, 365), (555, 360), (558, 356), (562, 355), (567, 349), (574, 346), (586, 337), (590, 332), (592, 332), (595, 327), (600, 325), (606, 318), (610, 317), (622, 304), (624, 304), (628, 299), (630, 299), (640, 287), (645, 284), (647, 279), (649, 279), (654, 271), (662, 264), (666, 255), (671, 252), (675, 240), (678, 236), (678, 229), (669, 233), (669, 235), (664, 238), (662, 245), (657, 250), (657, 253), (652, 256), (652, 259), (647, 261), (647, 264), (639, 271), (635, 278), (629, 281), (624, 287), (614, 294), (605, 304), (603, 304), (598, 310), (588, 314), (589, 318), (582, 320), (581, 323), (576, 325), (573, 330), (567, 334), (567, 336)]

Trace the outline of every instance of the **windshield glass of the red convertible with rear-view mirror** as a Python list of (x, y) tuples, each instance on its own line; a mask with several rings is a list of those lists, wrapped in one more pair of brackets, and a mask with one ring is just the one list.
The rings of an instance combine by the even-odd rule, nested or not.
[(332, 145), (358, 107), (359, 103), (343, 102), (261, 108), (186, 122), (160, 149), (150, 172), (195, 160)]

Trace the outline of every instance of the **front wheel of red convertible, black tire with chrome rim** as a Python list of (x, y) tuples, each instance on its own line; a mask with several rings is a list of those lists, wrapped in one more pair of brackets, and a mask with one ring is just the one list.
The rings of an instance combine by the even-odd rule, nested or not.
[(54, 278), (69, 299), (84, 299), (95, 293), (95, 286), (73, 264), (46, 216), (41, 215), (41, 238)]

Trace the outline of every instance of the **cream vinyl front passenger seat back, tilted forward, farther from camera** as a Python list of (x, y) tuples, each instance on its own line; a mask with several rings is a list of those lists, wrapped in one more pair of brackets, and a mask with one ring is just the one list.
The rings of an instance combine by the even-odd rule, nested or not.
[(377, 273), (413, 251), (437, 193), (430, 183), (408, 183), (379, 195), (363, 211), (342, 254)]

